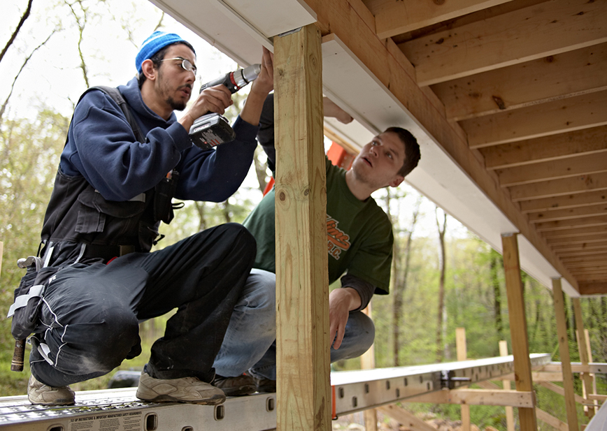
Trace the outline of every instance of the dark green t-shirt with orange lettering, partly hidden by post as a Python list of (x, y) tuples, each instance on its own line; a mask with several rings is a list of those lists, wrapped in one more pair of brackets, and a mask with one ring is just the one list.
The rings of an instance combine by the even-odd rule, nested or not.
[[(386, 294), (392, 263), (392, 225), (373, 198), (358, 200), (348, 189), (345, 170), (327, 159), (327, 250), (329, 284), (345, 272)], [(276, 272), (274, 189), (255, 207), (244, 226), (257, 240), (253, 268)]]

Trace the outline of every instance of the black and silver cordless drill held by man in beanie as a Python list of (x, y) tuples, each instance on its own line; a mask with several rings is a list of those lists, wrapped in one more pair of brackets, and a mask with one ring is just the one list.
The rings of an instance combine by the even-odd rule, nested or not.
[[(260, 64), (252, 64), (243, 69), (226, 73), (215, 80), (209, 81), (200, 87), (200, 92), (215, 85), (225, 85), (234, 94), (245, 87), (249, 82), (255, 80), (262, 71)], [(211, 149), (223, 143), (229, 143), (236, 138), (234, 129), (231, 128), (227, 119), (215, 112), (207, 113), (196, 119), (190, 128), (190, 139), (194, 145), (202, 149)]]

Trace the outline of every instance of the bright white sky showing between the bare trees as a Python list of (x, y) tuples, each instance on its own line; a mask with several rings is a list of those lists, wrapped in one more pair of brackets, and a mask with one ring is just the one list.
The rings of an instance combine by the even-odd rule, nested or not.
[[(84, 2), (91, 3), (90, 1)], [(61, 7), (52, 7), (61, 4)], [(27, 7), (27, 0), (0, 0), (0, 10), (4, 16), (0, 26), (0, 45), (3, 47), (14, 31)], [(89, 70), (90, 85), (117, 86), (126, 83), (136, 73), (134, 59), (139, 45), (157, 26), (161, 11), (148, 0), (106, 0), (106, 6), (95, 6), (99, 17), (87, 22), (85, 27), (83, 53)], [(108, 19), (110, 11), (119, 20), (127, 20), (134, 43), (128, 40), (127, 31), (120, 22)], [(61, 17), (59, 18), (57, 17)], [(27, 117), (34, 115), (33, 109), (43, 103), (70, 117), (73, 102), (86, 89), (83, 73), (79, 68), (77, 42), (78, 31), (73, 16), (63, 0), (41, 1), (33, 3), (31, 16), (20, 31), (17, 41), (6, 53), (0, 63), (0, 103), (10, 92), (10, 85), (31, 51), (47, 38), (57, 22), (64, 29), (53, 34), (46, 45), (32, 55), (26, 68), (18, 78), (10, 97), (8, 117)], [(190, 41), (197, 53), (199, 76), (194, 84), (194, 94), (199, 86), (223, 73), (236, 69), (236, 63), (225, 56), (202, 38), (164, 15), (162, 30), (179, 34)], [(261, 57), (261, 54), (260, 54)], [(242, 92), (248, 92), (243, 89)], [(250, 171), (245, 185), (256, 187), (255, 173)], [(399, 216), (404, 219), (403, 226), (408, 227), (417, 192), (404, 184), (400, 187), (408, 191), (408, 197), (399, 205)], [(377, 192), (382, 194), (381, 191)], [(261, 196), (259, 196), (261, 198)], [(417, 235), (436, 237), (436, 218), (434, 204), (424, 199), (422, 203), (424, 217), (420, 219)], [(450, 218), (450, 233), (465, 236), (466, 229), (455, 219)]]

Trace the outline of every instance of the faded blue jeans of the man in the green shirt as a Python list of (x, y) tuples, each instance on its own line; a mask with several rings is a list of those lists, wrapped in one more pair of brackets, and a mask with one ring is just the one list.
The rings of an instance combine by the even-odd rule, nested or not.
[[(350, 312), (341, 346), (331, 346), (331, 362), (361, 356), (374, 338), (373, 321), (362, 312)], [(213, 367), (223, 377), (248, 371), (258, 379), (276, 380), (276, 275), (272, 272), (251, 270)]]

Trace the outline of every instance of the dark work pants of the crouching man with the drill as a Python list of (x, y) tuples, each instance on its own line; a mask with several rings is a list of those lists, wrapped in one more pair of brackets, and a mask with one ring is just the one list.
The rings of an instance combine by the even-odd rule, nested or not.
[(62, 268), (44, 293), (47, 329), (33, 337), (31, 372), (50, 386), (106, 374), (140, 349), (139, 321), (177, 308), (152, 346), (148, 372), (212, 381), (255, 249), (243, 226), (224, 224), (153, 253)]

